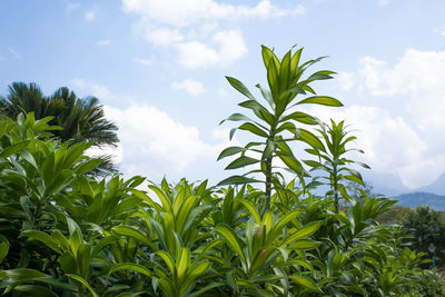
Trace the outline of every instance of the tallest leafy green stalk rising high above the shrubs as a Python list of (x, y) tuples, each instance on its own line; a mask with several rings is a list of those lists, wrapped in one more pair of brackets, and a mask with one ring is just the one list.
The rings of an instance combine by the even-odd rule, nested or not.
[[(273, 186), (280, 185), (278, 178), (284, 179), (277, 167), (274, 166), (274, 158), (278, 157), (285, 164), (287, 170), (290, 170), (304, 181), (303, 177), (307, 176), (307, 171), (294, 156), (288, 143), (294, 140), (303, 140), (317, 146), (319, 142), (310, 131), (300, 128), (301, 123), (317, 125), (318, 119), (300, 111), (298, 107), (303, 105), (343, 106), (340, 101), (333, 97), (316, 95), (310, 85), (317, 80), (330, 79), (335, 72), (320, 70), (307, 76), (307, 69), (324, 57), (301, 62), (301, 51), (303, 48), (295, 52), (289, 50), (283, 59), (278, 59), (273, 50), (263, 46), (261, 56), (267, 70), (268, 88), (264, 88), (259, 83), (256, 85), (263, 99), (254, 97), (239, 80), (226, 77), (237, 91), (247, 97), (247, 100), (240, 102), (239, 106), (250, 110), (254, 116), (234, 113), (228, 117), (226, 120), (243, 122), (231, 129), (230, 139), (235, 131), (239, 129), (259, 137), (259, 141), (248, 142), (244, 147), (228, 147), (221, 151), (218, 160), (237, 155), (238, 157), (226, 169), (238, 169), (249, 165), (259, 165), (259, 168), (257, 167), (244, 176), (231, 176), (219, 185), (259, 181), (248, 176), (263, 174), (265, 180), (261, 181), (265, 184), (266, 196), (266, 207), (263, 214), (269, 209)], [(310, 96), (300, 99), (301, 96), (306, 95)]]

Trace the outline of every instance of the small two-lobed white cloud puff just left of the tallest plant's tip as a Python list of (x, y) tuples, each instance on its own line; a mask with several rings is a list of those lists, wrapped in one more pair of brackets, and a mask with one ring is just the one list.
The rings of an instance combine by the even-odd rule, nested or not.
[(217, 49), (206, 43), (191, 41), (177, 46), (178, 62), (188, 69), (207, 68), (214, 65), (227, 66), (241, 58), (247, 48), (241, 32), (237, 30), (219, 31), (212, 38)]

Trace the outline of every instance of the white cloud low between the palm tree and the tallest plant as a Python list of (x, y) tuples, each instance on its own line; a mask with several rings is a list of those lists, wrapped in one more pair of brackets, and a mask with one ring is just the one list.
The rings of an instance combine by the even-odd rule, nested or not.
[(134, 105), (126, 109), (106, 106), (106, 115), (119, 127), (121, 166), (131, 175), (161, 177), (167, 172), (182, 172), (197, 159), (215, 160), (229, 142), (227, 131), (215, 130), (218, 143), (206, 143), (196, 127), (177, 122), (150, 106)]

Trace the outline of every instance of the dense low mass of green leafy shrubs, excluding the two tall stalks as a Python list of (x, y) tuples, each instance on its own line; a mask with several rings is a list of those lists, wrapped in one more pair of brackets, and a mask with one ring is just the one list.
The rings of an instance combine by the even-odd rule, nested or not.
[[(423, 254), (375, 219), (393, 201), (306, 198), (181, 180), (96, 180), (83, 151), (48, 138), (50, 118), (0, 125), (0, 287), (42, 296), (387, 296), (419, 289)], [(159, 201), (159, 202), (158, 202)]]

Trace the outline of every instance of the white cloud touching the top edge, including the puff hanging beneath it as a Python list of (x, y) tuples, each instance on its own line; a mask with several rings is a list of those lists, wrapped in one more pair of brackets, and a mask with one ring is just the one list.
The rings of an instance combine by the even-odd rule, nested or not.
[(138, 34), (155, 46), (176, 49), (178, 63), (188, 69), (225, 66), (247, 51), (239, 30), (215, 32), (220, 22), (234, 27), (235, 20), (281, 18), (305, 12), (300, 4), (279, 8), (270, 0), (260, 0), (253, 6), (214, 0), (122, 0), (122, 9), (140, 17), (135, 26)]

